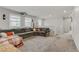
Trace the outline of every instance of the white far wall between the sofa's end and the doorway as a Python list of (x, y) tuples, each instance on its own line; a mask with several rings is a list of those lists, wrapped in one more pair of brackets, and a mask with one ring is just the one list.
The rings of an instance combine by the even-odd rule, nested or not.
[(63, 33), (63, 17), (50, 17), (45, 20), (45, 26), (49, 27), (51, 31), (56, 34)]

